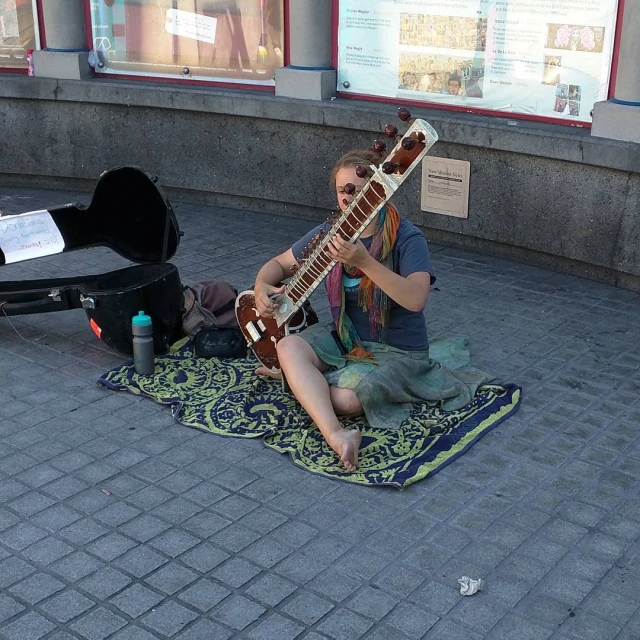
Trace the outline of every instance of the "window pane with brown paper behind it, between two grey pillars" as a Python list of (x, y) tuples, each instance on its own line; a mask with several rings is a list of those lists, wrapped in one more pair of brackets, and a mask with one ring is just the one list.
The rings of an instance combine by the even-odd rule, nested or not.
[(284, 0), (92, 0), (103, 71), (273, 84)]

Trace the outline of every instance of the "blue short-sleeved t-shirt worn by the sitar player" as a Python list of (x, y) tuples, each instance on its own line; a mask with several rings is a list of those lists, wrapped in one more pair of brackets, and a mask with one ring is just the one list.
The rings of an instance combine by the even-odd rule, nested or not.
[[(328, 225), (326, 223), (318, 225), (291, 247), (296, 260), (300, 261), (302, 259), (305, 247), (322, 229), (328, 229)], [(361, 238), (362, 243), (367, 248), (371, 244), (371, 239), (371, 236)], [(431, 275), (431, 284), (435, 282), (427, 239), (422, 231), (408, 220), (400, 220), (396, 243), (393, 247), (393, 264), (396, 273), (402, 277), (406, 278), (411, 273), (424, 271)], [(363, 311), (358, 305), (360, 280), (358, 278), (350, 278), (345, 274), (343, 284), (345, 286), (346, 313), (351, 318), (351, 322), (353, 322), (360, 339), (375, 341), (376, 338), (371, 336), (369, 312)], [(405, 351), (426, 351), (429, 348), (429, 339), (427, 337), (427, 324), (424, 313), (422, 311), (409, 311), (391, 299), (389, 299), (389, 302), (391, 306), (389, 308), (389, 322), (385, 342), (392, 347)]]

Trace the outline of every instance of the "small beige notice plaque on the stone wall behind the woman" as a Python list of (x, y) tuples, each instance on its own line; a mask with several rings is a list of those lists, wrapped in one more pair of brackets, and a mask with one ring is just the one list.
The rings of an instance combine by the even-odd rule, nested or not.
[(466, 160), (425, 157), (422, 163), (423, 211), (456, 218), (469, 216), (469, 169)]

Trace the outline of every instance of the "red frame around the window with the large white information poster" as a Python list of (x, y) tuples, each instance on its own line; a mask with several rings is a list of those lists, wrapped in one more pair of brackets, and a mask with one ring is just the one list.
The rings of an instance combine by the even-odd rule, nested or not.
[[(332, 0), (333, 15), (332, 15), (332, 34), (331, 43), (333, 48), (332, 64), (333, 67), (338, 69), (338, 29), (339, 29), (339, 16), (340, 16), (340, 0)], [(619, 43), (620, 33), (622, 31), (622, 16), (624, 12), (625, 0), (618, 0), (618, 11), (616, 15), (616, 28), (613, 41), (613, 56), (611, 61), (611, 74), (609, 78), (609, 91), (607, 93), (607, 99), (613, 97), (615, 93), (615, 83), (618, 73), (618, 57), (619, 57)], [(476, 113), (479, 115), (490, 115), (496, 118), (508, 118), (509, 120), (528, 120), (530, 122), (543, 122), (546, 124), (561, 124), (568, 127), (579, 127), (584, 129), (591, 129), (590, 122), (571, 122), (562, 120), (560, 118), (550, 118), (546, 116), (532, 116), (526, 113), (504, 113), (502, 111), (493, 111), (491, 109), (476, 109), (472, 107), (461, 107), (457, 105), (443, 105), (434, 102), (425, 102), (420, 100), (399, 100), (397, 98), (381, 98), (379, 96), (370, 96), (365, 94), (343, 93), (340, 90), (337, 91), (337, 95), (340, 98), (346, 100), (366, 100), (369, 102), (384, 102), (387, 104), (409, 104), (416, 107), (425, 107), (428, 109), (443, 109), (445, 111), (458, 111), (464, 113)]]

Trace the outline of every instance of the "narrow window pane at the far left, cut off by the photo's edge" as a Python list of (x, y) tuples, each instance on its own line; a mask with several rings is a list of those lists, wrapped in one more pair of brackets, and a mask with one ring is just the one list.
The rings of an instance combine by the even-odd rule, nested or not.
[(26, 69), (26, 50), (36, 48), (31, 0), (0, 0), (0, 67)]

